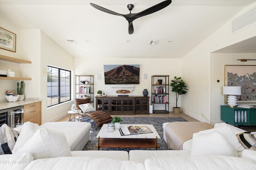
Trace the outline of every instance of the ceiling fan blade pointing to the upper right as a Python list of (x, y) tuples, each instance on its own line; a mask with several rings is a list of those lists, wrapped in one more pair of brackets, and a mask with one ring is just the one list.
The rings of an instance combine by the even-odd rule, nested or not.
[(154, 12), (157, 12), (159, 10), (162, 10), (163, 8), (165, 8), (166, 6), (170, 5), (172, 3), (172, 0), (165, 0), (163, 2), (160, 2), (159, 4), (156, 4), (142, 12), (136, 13), (132, 18), (133, 20), (135, 20), (136, 18), (140, 18), (142, 16), (146, 16), (148, 14), (152, 14)]

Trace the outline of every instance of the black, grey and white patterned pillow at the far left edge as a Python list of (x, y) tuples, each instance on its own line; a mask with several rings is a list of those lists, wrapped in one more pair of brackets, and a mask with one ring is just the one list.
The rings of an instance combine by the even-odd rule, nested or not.
[(3, 124), (0, 127), (0, 155), (12, 154), (12, 150), (18, 139), (19, 132)]

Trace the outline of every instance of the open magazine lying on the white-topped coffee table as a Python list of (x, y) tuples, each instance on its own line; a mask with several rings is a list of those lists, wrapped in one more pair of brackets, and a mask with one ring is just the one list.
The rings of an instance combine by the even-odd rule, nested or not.
[(121, 136), (153, 133), (147, 126), (128, 126), (119, 128)]

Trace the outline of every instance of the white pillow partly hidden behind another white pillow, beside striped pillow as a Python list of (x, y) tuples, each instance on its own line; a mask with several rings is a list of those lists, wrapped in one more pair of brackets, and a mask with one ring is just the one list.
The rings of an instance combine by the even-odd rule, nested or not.
[(236, 134), (229, 126), (214, 127), (213, 129), (200, 131), (198, 134), (209, 134), (212, 132), (221, 133), (229, 145), (236, 149), (237, 152), (242, 152), (244, 150), (244, 147), (242, 147), (241, 143), (239, 143)]

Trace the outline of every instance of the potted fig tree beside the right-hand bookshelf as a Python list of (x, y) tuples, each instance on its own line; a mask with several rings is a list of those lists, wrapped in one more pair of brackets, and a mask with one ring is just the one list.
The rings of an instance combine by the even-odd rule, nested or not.
[(187, 86), (185, 82), (181, 79), (181, 77), (174, 77), (175, 79), (172, 80), (172, 83), (170, 86), (172, 87), (172, 92), (176, 92), (176, 107), (173, 107), (173, 113), (179, 114), (180, 113), (180, 107), (177, 106), (178, 98), (182, 94), (186, 94)]

